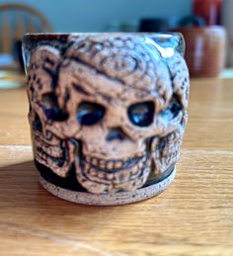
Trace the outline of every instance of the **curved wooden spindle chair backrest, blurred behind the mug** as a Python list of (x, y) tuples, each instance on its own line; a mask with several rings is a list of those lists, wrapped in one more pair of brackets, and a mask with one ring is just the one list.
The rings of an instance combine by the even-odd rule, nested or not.
[(51, 26), (38, 10), (24, 4), (0, 4), (0, 52), (14, 52), (14, 43), (25, 33), (51, 32)]

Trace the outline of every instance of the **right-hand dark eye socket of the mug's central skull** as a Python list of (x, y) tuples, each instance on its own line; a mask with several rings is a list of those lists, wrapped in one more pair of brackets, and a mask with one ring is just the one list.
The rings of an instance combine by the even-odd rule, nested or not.
[(130, 122), (140, 128), (149, 127), (154, 119), (154, 103), (143, 102), (129, 106), (127, 115)]

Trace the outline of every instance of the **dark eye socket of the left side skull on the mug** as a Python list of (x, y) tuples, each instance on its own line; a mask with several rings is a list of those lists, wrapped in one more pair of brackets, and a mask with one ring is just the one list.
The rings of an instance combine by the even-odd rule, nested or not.
[(68, 113), (59, 108), (54, 93), (46, 93), (42, 95), (42, 109), (48, 120), (62, 122), (68, 119)]

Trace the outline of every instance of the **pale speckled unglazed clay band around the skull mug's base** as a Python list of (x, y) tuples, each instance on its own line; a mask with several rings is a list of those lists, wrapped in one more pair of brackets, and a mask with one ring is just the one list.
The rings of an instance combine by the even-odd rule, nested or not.
[(72, 203), (90, 206), (117, 206), (143, 201), (159, 195), (170, 186), (175, 176), (176, 168), (174, 168), (166, 179), (156, 184), (135, 191), (110, 193), (105, 195), (63, 189), (46, 181), (40, 174), (39, 183), (43, 189), (53, 196)]

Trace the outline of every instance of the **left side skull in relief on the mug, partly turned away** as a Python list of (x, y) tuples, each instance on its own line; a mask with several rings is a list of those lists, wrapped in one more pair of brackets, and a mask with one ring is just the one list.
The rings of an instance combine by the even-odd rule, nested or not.
[(28, 73), (29, 121), (35, 158), (54, 173), (65, 177), (71, 167), (74, 145), (65, 140), (60, 124), (68, 118), (56, 102), (52, 89), (59, 62), (59, 52), (52, 47), (40, 47), (31, 57)]

